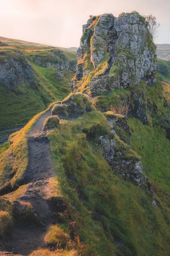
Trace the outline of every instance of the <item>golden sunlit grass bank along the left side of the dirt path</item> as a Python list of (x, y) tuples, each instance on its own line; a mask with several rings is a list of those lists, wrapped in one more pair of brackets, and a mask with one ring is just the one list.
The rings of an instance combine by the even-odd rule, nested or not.
[[(53, 105), (53, 104), (51, 104)], [(49, 105), (48, 109), (51, 107)], [(46, 110), (45, 110), (46, 111)], [(0, 155), (0, 187), (6, 185), (17, 185), (18, 182), (23, 177), (23, 174), (28, 165), (28, 143), (27, 136), (32, 125), (37, 121), (37, 119), (45, 112), (34, 116), (33, 119), (28, 122), (28, 124), (23, 127), (20, 131), (11, 134), (9, 141), (11, 143), (10, 147)], [(13, 177), (8, 179), (8, 176)]]

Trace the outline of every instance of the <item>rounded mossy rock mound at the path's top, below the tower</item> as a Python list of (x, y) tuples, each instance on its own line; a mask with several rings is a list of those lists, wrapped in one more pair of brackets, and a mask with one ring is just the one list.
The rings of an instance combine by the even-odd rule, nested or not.
[(62, 104), (67, 105), (68, 115), (79, 116), (86, 112), (92, 111), (91, 102), (89, 102), (88, 97), (82, 93), (72, 94), (68, 99), (62, 102)]

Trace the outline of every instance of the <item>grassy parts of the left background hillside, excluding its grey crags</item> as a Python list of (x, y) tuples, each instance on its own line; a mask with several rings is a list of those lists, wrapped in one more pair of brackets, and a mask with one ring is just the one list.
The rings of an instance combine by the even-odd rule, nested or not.
[[(20, 50), (31, 63), (34, 70), (34, 83), (25, 83), (26, 86), (12, 87), (8, 90), (0, 86), (0, 130), (13, 128), (15, 125), (26, 124), (36, 113), (45, 109), (51, 102), (64, 99), (71, 92), (71, 79), (74, 71), (64, 72), (62, 81), (55, 78), (56, 68), (42, 67), (35, 60), (45, 57), (46, 61), (51, 57), (51, 50), (63, 50), (63, 58), (68, 61), (76, 61), (76, 52), (18, 41), (8, 38), (0, 38), (0, 52), (13, 56), (16, 50)], [(35, 58), (31, 59), (34, 55)], [(0, 55), (4, 58), (4, 55)]]

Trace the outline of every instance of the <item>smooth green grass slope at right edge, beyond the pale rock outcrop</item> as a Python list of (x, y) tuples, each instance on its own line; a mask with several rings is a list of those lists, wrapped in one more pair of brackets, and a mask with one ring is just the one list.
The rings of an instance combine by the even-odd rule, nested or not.
[[(140, 156), (146, 175), (168, 192), (170, 188), (170, 141), (164, 129), (149, 127), (135, 119), (128, 120), (132, 139), (130, 144)], [(140, 142), (140, 143), (139, 143)]]

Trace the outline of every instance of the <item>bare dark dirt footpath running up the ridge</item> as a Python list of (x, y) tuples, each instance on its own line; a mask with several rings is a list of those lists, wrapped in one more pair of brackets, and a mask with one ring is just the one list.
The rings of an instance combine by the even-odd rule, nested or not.
[[(52, 108), (52, 107), (51, 107)], [(17, 218), (13, 233), (0, 242), (0, 255), (28, 255), (32, 250), (45, 247), (44, 236), (48, 227), (56, 223), (57, 208), (51, 207), (49, 184), (56, 176), (50, 145), (42, 131), (43, 123), (51, 116), (51, 108), (40, 116), (28, 135), (29, 161), (25, 185), (18, 192), (4, 197), (14, 204), (16, 218), (27, 203), (33, 207), (32, 220)], [(57, 207), (57, 206), (56, 206)], [(53, 209), (51, 209), (53, 208)], [(11, 254), (5, 254), (11, 252)], [(7, 252), (8, 251), (8, 252)]]

